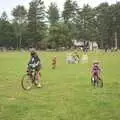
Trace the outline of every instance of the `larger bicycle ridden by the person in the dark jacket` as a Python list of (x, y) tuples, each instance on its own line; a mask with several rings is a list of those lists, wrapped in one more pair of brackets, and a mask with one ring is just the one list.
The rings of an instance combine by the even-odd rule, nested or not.
[(22, 77), (21, 86), (24, 90), (30, 90), (33, 85), (36, 84), (36, 72), (35, 70), (27, 70), (27, 73)]

